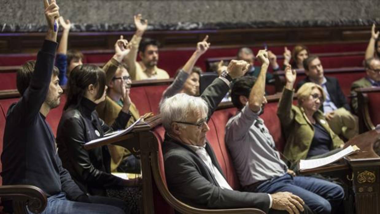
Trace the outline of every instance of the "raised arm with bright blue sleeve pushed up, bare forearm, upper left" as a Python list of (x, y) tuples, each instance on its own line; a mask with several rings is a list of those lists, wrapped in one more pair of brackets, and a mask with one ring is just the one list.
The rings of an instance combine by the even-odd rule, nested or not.
[(64, 20), (63, 17), (59, 17), (59, 24), (62, 26), (62, 36), (61, 40), (59, 41), (59, 46), (57, 50), (57, 57), (55, 57), (55, 66), (57, 66), (59, 70), (59, 85), (66, 85), (67, 77), (66, 77), (66, 70), (67, 70), (67, 41), (68, 36), (71, 28), (70, 20)]

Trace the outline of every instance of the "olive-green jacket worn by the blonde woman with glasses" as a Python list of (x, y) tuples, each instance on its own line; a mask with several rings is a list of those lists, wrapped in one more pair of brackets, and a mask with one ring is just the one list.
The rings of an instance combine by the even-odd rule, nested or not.
[[(293, 90), (284, 88), (277, 115), (280, 118), (282, 129), (286, 130), (284, 132), (286, 138), (284, 155), (294, 163), (300, 159), (306, 159), (314, 137), (314, 127), (307, 118), (304, 109), (292, 105), (293, 93)], [(332, 132), (320, 110), (314, 113), (313, 118), (330, 133), (332, 139), (330, 150), (339, 148), (344, 143), (338, 135)]]

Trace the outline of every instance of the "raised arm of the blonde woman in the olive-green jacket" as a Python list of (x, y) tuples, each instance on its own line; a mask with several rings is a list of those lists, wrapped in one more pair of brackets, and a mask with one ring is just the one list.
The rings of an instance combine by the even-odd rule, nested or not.
[(287, 65), (285, 68), (286, 84), (277, 108), (277, 116), (279, 116), (283, 126), (288, 126), (294, 120), (294, 113), (291, 110), (291, 107), (293, 103), (293, 87), (294, 82), (296, 81), (296, 75), (296, 70), (292, 70), (291, 66)]

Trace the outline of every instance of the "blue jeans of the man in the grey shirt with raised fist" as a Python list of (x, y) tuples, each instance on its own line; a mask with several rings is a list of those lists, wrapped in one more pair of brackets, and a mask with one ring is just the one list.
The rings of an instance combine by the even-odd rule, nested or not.
[(344, 198), (344, 190), (337, 184), (312, 177), (293, 177), (288, 173), (260, 184), (256, 192), (291, 192), (318, 214), (333, 213)]

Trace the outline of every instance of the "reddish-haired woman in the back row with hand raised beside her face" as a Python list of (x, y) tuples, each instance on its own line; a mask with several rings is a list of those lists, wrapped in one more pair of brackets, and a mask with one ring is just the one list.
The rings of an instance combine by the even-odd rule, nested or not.
[[(304, 59), (309, 57), (309, 49), (303, 45), (296, 45), (293, 48), (293, 51), (290, 52), (287, 47), (285, 47), (284, 55), (284, 69), (287, 65), (291, 65), (295, 69), (304, 69), (302, 62)], [(290, 62), (291, 61), (291, 62)]]

